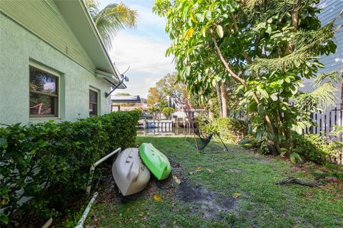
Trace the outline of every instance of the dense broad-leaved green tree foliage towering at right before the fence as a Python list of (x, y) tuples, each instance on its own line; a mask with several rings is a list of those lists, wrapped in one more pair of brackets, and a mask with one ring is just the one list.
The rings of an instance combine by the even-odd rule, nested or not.
[(203, 99), (217, 83), (233, 83), (252, 132), (281, 153), (292, 132), (312, 125), (289, 100), (324, 67), (318, 56), (336, 51), (337, 28), (321, 26), (318, 2), (155, 0), (154, 11), (167, 19), (178, 80)]

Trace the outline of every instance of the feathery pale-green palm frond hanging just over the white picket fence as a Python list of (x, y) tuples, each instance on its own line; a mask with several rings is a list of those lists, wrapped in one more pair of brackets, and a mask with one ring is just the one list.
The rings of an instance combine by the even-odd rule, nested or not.
[(326, 110), (327, 107), (336, 104), (336, 93), (337, 88), (331, 82), (327, 82), (312, 92), (298, 95), (297, 105), (302, 110), (309, 112)]

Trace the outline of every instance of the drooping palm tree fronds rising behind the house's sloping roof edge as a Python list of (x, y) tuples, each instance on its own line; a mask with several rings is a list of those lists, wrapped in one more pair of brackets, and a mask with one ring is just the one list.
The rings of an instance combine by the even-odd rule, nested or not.
[(121, 29), (136, 27), (137, 11), (122, 3), (109, 4), (101, 10), (98, 0), (85, 0), (85, 3), (106, 49), (111, 49), (111, 41)]

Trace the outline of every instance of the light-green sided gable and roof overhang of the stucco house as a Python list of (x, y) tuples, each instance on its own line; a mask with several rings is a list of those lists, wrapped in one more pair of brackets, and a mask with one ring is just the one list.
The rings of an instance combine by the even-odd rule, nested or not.
[[(0, 11), (113, 86), (121, 82), (82, 0), (0, 1)], [(121, 84), (119, 88), (126, 88)]]

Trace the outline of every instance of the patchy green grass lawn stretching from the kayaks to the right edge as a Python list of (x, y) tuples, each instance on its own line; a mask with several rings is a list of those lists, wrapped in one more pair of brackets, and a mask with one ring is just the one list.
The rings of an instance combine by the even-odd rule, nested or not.
[(109, 174), (89, 227), (343, 227), (342, 182), (274, 185), (286, 177), (313, 181), (316, 165), (296, 167), (236, 145), (197, 154), (184, 138), (137, 138), (141, 142), (169, 157), (181, 185), (172, 177), (153, 179), (146, 190), (124, 198)]

